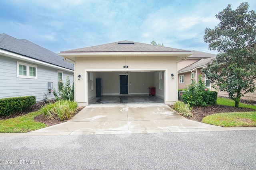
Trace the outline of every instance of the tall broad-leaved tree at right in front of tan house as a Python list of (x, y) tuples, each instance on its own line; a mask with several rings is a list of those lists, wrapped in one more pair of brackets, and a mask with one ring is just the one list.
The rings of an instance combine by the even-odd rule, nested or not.
[(216, 90), (228, 92), (239, 107), (241, 96), (254, 92), (256, 80), (256, 13), (243, 2), (236, 10), (228, 5), (216, 15), (220, 23), (206, 28), (204, 42), (218, 51), (202, 72)]

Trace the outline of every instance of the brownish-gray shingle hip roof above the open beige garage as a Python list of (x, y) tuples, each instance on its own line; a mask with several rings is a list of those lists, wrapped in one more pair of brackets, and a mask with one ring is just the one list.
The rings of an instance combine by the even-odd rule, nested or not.
[(96, 45), (92, 47), (85, 47), (80, 49), (73, 49), (68, 51), (62, 51), (61, 53), (68, 52), (150, 52), (150, 51), (188, 51), (182, 49), (174, 49), (170, 47), (162, 47), (158, 45), (150, 45), (144, 43), (138, 43), (134, 41), (118, 41), (115, 43), (108, 43), (103, 45)]

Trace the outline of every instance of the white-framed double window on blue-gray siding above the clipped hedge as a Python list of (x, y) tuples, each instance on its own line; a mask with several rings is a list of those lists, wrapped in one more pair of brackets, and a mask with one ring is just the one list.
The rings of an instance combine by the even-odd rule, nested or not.
[(17, 77), (37, 79), (37, 66), (17, 61)]

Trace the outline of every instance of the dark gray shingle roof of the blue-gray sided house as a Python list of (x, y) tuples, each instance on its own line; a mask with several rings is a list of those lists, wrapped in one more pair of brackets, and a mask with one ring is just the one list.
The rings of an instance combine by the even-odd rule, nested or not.
[(72, 63), (63, 61), (63, 58), (56, 53), (26, 39), (16, 39), (7, 34), (0, 34), (0, 49), (74, 70)]

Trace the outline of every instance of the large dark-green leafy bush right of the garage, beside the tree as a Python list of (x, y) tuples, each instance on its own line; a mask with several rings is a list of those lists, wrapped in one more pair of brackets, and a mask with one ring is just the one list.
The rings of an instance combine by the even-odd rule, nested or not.
[(182, 99), (190, 106), (212, 106), (217, 103), (217, 92), (211, 92), (202, 82), (202, 76), (199, 76), (198, 83), (192, 81), (189, 86), (184, 89)]

